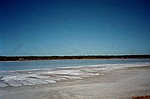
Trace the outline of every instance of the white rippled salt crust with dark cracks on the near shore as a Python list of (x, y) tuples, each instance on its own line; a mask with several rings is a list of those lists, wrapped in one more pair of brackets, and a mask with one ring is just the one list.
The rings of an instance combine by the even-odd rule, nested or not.
[(11, 72), (1, 77), (0, 87), (19, 87), (24, 85), (50, 84), (63, 80), (81, 80), (85, 77), (94, 77), (99, 71), (107, 68), (100, 67), (78, 67), (56, 70), (41, 70), (30, 72)]

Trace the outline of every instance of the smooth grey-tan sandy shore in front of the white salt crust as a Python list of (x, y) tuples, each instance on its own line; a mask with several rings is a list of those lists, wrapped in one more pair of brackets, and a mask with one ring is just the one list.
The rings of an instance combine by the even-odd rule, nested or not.
[(125, 67), (99, 74), (51, 84), (1, 87), (0, 99), (131, 99), (150, 95), (150, 66)]

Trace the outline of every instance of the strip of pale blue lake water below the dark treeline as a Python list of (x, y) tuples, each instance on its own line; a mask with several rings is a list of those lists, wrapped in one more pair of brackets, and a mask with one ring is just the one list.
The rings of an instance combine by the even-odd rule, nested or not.
[(88, 59), (88, 60), (44, 60), (0, 62), (0, 71), (32, 70), (57, 67), (89, 66), (99, 64), (141, 64), (150, 63), (150, 59)]

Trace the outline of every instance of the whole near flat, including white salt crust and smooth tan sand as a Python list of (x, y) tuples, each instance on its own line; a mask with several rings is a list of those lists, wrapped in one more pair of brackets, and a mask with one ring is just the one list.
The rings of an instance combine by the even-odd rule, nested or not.
[(59, 68), (0, 77), (0, 99), (132, 99), (150, 95), (150, 66)]

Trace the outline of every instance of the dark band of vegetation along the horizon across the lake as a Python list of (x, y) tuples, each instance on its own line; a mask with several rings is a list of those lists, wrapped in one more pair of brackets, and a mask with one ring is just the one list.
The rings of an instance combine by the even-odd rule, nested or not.
[(110, 56), (0, 56), (0, 61), (26, 61), (26, 60), (60, 60), (60, 59), (142, 59), (150, 55), (110, 55)]

